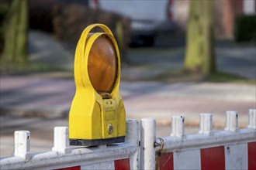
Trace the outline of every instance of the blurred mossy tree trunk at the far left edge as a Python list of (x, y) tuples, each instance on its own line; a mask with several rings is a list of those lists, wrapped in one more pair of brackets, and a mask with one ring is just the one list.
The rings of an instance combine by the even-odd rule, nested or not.
[(3, 58), (12, 63), (27, 63), (28, 2), (12, 0), (5, 20)]

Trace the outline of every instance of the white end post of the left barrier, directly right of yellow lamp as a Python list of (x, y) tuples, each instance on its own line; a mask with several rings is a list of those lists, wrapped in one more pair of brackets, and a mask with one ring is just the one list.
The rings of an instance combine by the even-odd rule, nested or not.
[(137, 151), (130, 158), (131, 169), (140, 169), (139, 135), (139, 122), (135, 119), (126, 120), (126, 142), (137, 148)]

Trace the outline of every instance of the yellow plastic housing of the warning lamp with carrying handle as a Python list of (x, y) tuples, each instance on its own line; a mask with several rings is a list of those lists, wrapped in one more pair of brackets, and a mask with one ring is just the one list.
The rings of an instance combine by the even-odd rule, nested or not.
[[(99, 27), (103, 32), (90, 33), (92, 29)], [(88, 68), (93, 66), (94, 59), (89, 59), (90, 51), (95, 41), (99, 38), (106, 38), (111, 42), (115, 49), (116, 68), (113, 68), (109, 75), (97, 75), (94, 71), (99, 71), (101, 65), (94, 69)], [(100, 46), (104, 47), (103, 44)], [(106, 44), (106, 46), (108, 46)], [(97, 52), (97, 51), (96, 51)], [(90, 56), (92, 57), (92, 55)], [(99, 57), (106, 57), (105, 55)], [(104, 66), (105, 63), (102, 63)], [(96, 68), (96, 69), (95, 69)], [(103, 68), (104, 70), (104, 68)], [(91, 73), (88, 73), (91, 72)], [(105, 72), (106, 73), (106, 72)], [(107, 72), (108, 73), (108, 72)], [(91, 79), (90, 79), (90, 75)], [(102, 72), (99, 71), (99, 74)], [(111, 75), (110, 75), (111, 74)], [(110, 79), (93, 80), (92, 77), (110, 76)], [(112, 81), (114, 77), (113, 82)], [(69, 138), (70, 140), (106, 140), (112, 138), (125, 137), (126, 135), (126, 112), (123, 106), (123, 100), (119, 93), (120, 82), (120, 56), (119, 49), (114, 36), (110, 29), (102, 24), (93, 24), (88, 26), (81, 34), (78, 41), (74, 56), (74, 81), (76, 92), (69, 113)], [(94, 85), (92, 85), (94, 83)], [(103, 83), (106, 84), (102, 87)], [(99, 84), (99, 90), (97, 84)], [(110, 84), (110, 85), (109, 85)]]

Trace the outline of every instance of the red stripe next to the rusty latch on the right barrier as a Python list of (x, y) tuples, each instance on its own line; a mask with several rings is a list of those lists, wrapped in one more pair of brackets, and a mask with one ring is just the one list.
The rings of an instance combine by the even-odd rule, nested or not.
[(173, 170), (173, 153), (164, 153), (159, 159), (160, 170)]

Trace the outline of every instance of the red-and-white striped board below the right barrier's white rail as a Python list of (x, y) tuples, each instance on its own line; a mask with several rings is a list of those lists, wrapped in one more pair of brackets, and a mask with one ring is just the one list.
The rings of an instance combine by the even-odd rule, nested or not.
[(255, 169), (256, 142), (163, 153), (160, 169)]

